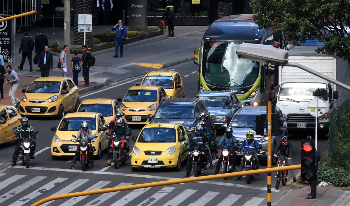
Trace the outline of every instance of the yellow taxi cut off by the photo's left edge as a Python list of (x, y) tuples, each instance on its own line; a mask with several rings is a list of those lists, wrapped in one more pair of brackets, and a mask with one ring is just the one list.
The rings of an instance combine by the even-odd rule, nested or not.
[(14, 131), (21, 125), (21, 118), (12, 105), (0, 105), (0, 144), (16, 141)]

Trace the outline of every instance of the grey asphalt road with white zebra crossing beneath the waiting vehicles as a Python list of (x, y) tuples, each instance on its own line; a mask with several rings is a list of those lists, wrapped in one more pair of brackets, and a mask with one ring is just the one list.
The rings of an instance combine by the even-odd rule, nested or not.
[[(168, 68), (179, 71), (184, 82), (186, 97), (194, 97), (197, 90), (198, 66), (193, 62), (180, 64)], [(80, 99), (87, 98), (118, 98), (122, 97), (128, 88), (141, 81), (141, 77), (131, 78), (117, 85), (102, 88), (97, 91), (84, 93)], [(57, 127), (58, 119), (53, 118), (29, 118), (29, 124), (37, 135), (37, 154), (34, 160), (30, 161), (30, 168), (18, 164), (10, 167), (15, 144), (6, 143), (0, 145), (0, 204), (1, 205), (31, 205), (34, 202), (54, 194), (95, 190), (99, 188), (115, 187), (117, 185), (132, 185), (163, 181), (177, 178), (184, 178), (186, 165), (182, 165), (181, 172), (174, 172), (172, 169), (139, 169), (131, 171), (130, 161), (126, 165), (120, 165), (119, 169), (104, 167), (104, 158), (95, 160), (94, 165), (87, 167), (86, 172), (81, 171), (81, 165), (76, 164), (75, 170), (68, 170), (73, 157), (51, 159), (50, 146), (54, 132), (51, 127)], [(132, 136), (137, 136), (142, 126), (131, 126)], [(220, 131), (217, 137), (220, 140), (223, 132)], [(309, 134), (309, 133), (308, 133)], [(294, 164), (300, 160), (300, 139), (306, 133), (290, 135), (289, 140), (293, 143)], [(312, 135), (312, 134), (311, 134)], [(134, 142), (130, 142), (131, 148)], [(318, 141), (318, 147), (325, 151), (327, 140)], [(40, 152), (40, 153), (39, 153)], [(106, 151), (103, 151), (103, 157)], [(238, 161), (237, 161), (238, 162)], [(266, 168), (266, 161), (260, 161), (260, 168)], [(214, 166), (215, 167), (215, 166)], [(239, 163), (236, 168), (238, 170)], [(299, 171), (296, 171), (298, 173)], [(214, 168), (208, 168), (202, 175), (211, 175)], [(193, 174), (193, 172), (192, 172)], [(275, 179), (272, 178), (272, 183)], [(233, 181), (216, 179), (196, 183), (179, 185), (168, 185), (161, 187), (145, 188), (135, 191), (122, 191), (119, 193), (106, 193), (90, 195), (80, 198), (55, 200), (50, 205), (266, 205), (267, 175), (261, 174), (252, 179), (247, 185), (245, 180)], [(273, 199), (279, 198), (282, 190), (272, 190)]]

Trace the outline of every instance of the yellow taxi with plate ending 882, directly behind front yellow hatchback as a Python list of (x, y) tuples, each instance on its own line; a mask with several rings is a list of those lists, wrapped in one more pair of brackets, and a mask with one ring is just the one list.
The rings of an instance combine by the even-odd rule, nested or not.
[(160, 86), (133, 86), (124, 98), (118, 98), (120, 108), (125, 113), (128, 124), (148, 124), (149, 114), (154, 115), (158, 106), (168, 99), (163, 87)]

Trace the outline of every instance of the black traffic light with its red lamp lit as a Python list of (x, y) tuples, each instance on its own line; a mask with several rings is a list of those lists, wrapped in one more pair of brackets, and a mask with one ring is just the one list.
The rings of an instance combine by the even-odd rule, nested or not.
[(301, 180), (312, 181), (315, 178), (315, 140), (301, 140)]

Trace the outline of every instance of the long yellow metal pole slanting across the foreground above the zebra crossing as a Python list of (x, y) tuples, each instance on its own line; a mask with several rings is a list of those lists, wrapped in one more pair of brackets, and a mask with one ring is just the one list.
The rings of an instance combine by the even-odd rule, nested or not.
[[(250, 170), (250, 171), (244, 171), (244, 172), (233, 172), (233, 173), (226, 173), (226, 174), (208, 175), (203, 177), (191, 177), (191, 178), (184, 178), (184, 179), (159, 181), (159, 182), (153, 182), (153, 183), (144, 183), (144, 184), (138, 184), (138, 185), (112, 187), (112, 188), (90, 190), (90, 191), (84, 191), (84, 192), (74, 192), (69, 194), (59, 194), (59, 195), (54, 195), (54, 196), (39, 200), (31, 206), (39, 206), (41, 204), (44, 204), (45, 202), (52, 201), (52, 200), (79, 197), (79, 196), (85, 196), (85, 195), (102, 194), (102, 193), (125, 191), (125, 190), (135, 190), (135, 189), (146, 188), (146, 187), (174, 185), (174, 184), (180, 184), (180, 183), (190, 183), (190, 182), (196, 182), (196, 181), (221, 179), (221, 178), (237, 177), (237, 176), (244, 176), (244, 175), (247, 176), (247, 175), (253, 175), (253, 174), (262, 174), (262, 173), (268, 173), (268, 172), (278, 172), (278, 171), (297, 170), (297, 169), (301, 169), (301, 165), (274, 167), (274, 168)], [(271, 188), (269, 188), (269, 190), (271, 190)]]

